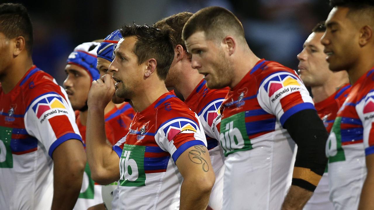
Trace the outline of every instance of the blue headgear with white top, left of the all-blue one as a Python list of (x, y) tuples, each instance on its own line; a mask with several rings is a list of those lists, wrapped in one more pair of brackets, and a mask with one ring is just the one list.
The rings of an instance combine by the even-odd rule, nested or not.
[(84, 68), (92, 77), (93, 80), (100, 78), (100, 72), (97, 70), (97, 56), (96, 51), (99, 47), (99, 42), (86, 42), (78, 45), (72, 53), (70, 53), (67, 64), (74, 64)]

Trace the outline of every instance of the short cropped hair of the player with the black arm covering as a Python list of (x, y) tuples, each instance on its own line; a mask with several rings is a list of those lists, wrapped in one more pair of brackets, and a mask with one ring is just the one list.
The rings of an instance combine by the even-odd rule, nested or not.
[(203, 31), (209, 40), (224, 38), (226, 35), (232, 34), (245, 41), (242, 23), (232, 12), (223, 7), (205, 7), (192, 15), (184, 25), (183, 40), (187, 40), (198, 31)]

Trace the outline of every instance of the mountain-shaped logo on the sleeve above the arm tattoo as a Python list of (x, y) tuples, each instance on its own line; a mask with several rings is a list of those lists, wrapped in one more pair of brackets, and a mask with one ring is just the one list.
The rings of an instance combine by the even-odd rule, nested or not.
[(197, 132), (197, 125), (192, 121), (175, 119), (169, 121), (168, 125), (163, 128), (163, 132), (165, 133), (166, 138), (168, 138), (169, 142), (174, 139), (174, 137), (183, 131), (191, 131), (196, 133)]

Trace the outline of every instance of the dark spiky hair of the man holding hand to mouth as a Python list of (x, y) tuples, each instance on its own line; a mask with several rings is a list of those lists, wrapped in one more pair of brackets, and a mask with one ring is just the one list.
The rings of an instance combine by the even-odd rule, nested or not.
[(123, 25), (120, 32), (123, 38), (129, 36), (137, 38), (133, 50), (138, 58), (138, 65), (147, 59), (156, 59), (156, 73), (160, 79), (165, 80), (174, 59), (174, 48), (169, 34), (155, 26), (136, 24)]

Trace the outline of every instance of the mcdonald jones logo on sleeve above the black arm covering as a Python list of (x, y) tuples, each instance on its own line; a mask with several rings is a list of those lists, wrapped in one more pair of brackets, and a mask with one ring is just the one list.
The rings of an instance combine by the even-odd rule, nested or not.
[(269, 97), (273, 96), (271, 100), (274, 102), (282, 95), (288, 95), (291, 92), (299, 90), (300, 86), (296, 76), (291, 74), (277, 74), (265, 83), (264, 89)]

